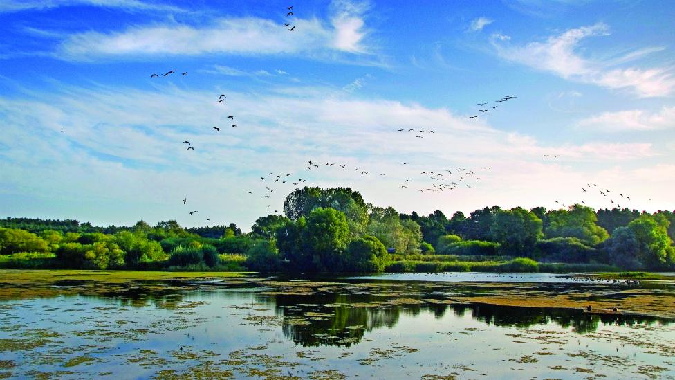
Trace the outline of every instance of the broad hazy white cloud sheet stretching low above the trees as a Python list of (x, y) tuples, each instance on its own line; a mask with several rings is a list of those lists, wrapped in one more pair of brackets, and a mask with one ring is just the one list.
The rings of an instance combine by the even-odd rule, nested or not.
[[(226, 105), (215, 102), (213, 94), (221, 92), (228, 94)], [(236, 128), (229, 127), (228, 114)], [(267, 204), (280, 210), (294, 188), (277, 184), (274, 197), (262, 199), (267, 182), (259, 177), (268, 172), (290, 173), (311, 186), (352, 186), (368, 201), (402, 212), (470, 211), (488, 203), (535, 206), (570, 193), (593, 176), (592, 165), (639, 163), (654, 156), (651, 145), (640, 142), (546, 146), (532, 136), (501, 132), (447, 109), (362, 100), (321, 87), (266, 93), (221, 87), (62, 87), (49, 99), (41, 93), (0, 97), (0, 123), (0, 208), (25, 215), (20, 211), (28, 206), (16, 206), (17, 197), (39, 199), (57, 192), (59, 202), (46, 202), (35, 212), (87, 220), (95, 218), (85, 212), (104, 210), (100, 217), (108, 219), (102, 223), (176, 218), (181, 224), (203, 224), (178, 207), (187, 196), (194, 210), (211, 212), (213, 222), (235, 221), (246, 228), (270, 211)], [(186, 151), (183, 140), (196, 149)], [(546, 160), (543, 154), (561, 157)], [(309, 159), (341, 163), (349, 170), (338, 165), (306, 170)], [(403, 159), (409, 162), (405, 167)], [(485, 166), (492, 170), (481, 171)], [(416, 192), (430, 187), (420, 172), (459, 167), (474, 169), (481, 180), (472, 180), (472, 189)], [(362, 176), (354, 168), (387, 176)], [(408, 177), (414, 179), (410, 191), (400, 189)], [(255, 194), (246, 198), (247, 190)], [(102, 206), (83, 209), (81, 204)], [(72, 210), (82, 211), (71, 215)]]

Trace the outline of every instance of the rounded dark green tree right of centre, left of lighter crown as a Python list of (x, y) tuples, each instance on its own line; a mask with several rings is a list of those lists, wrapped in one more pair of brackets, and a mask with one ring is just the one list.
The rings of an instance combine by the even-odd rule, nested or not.
[(523, 255), (532, 255), (535, 243), (544, 236), (542, 219), (521, 207), (498, 210), (490, 232), (504, 251)]

